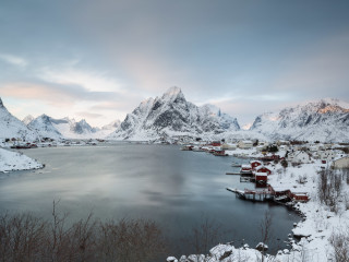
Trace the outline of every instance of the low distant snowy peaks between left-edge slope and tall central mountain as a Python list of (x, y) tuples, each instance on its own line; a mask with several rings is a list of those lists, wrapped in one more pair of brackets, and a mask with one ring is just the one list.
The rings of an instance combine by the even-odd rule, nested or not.
[(50, 138), (55, 140), (61, 139), (93, 139), (101, 138), (99, 129), (91, 127), (85, 119), (76, 122), (74, 119), (62, 118), (55, 119), (46, 115), (41, 115), (31, 121), (28, 127), (41, 138)]

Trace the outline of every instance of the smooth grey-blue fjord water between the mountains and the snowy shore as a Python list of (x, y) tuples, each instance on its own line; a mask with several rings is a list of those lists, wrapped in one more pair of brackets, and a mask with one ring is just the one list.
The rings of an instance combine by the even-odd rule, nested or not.
[[(272, 252), (299, 217), (285, 206), (243, 201), (229, 191), (246, 188), (231, 163), (202, 152), (183, 152), (176, 145), (118, 143), (107, 146), (70, 146), (25, 151), (46, 164), (41, 170), (0, 175), (0, 212), (32, 212), (49, 218), (52, 201), (72, 221), (86, 218), (149, 218), (169, 237), (169, 254), (193, 253), (182, 239), (208, 218), (220, 224), (220, 242), (251, 247), (261, 239), (266, 211), (273, 216)], [(279, 240), (277, 240), (279, 239)], [(217, 242), (218, 243), (218, 242)]]

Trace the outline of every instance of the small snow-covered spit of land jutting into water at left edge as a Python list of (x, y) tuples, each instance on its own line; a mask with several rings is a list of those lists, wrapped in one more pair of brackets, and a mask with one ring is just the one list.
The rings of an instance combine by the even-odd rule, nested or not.
[(19, 152), (0, 148), (0, 172), (43, 168), (38, 163)]

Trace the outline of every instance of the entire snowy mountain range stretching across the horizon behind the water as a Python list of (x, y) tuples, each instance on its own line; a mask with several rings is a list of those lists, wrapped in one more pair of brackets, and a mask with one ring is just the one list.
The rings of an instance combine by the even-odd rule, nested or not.
[(0, 99), (0, 138), (152, 140), (190, 135), (202, 139), (349, 141), (349, 105), (338, 99), (320, 99), (266, 112), (255, 118), (249, 130), (240, 129), (237, 118), (213, 105), (188, 102), (178, 87), (163, 96), (148, 98), (125, 119), (101, 129), (85, 120), (27, 116), (23, 122), (12, 116)]

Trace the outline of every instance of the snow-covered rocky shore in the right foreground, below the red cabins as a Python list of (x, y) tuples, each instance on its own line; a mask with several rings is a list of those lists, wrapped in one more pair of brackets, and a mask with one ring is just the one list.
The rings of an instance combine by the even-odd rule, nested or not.
[[(238, 151), (233, 152), (234, 154), (238, 153)], [(243, 151), (243, 153), (244, 155), (251, 155), (252, 151)], [(335, 250), (330, 245), (330, 239), (336, 234), (345, 234), (347, 237), (342, 245), (344, 249), (347, 248), (347, 254), (349, 255), (349, 198), (347, 196), (349, 194), (349, 184), (346, 182), (346, 179), (342, 180), (341, 194), (337, 199), (338, 212), (332, 212), (330, 207), (321, 203), (317, 196), (318, 171), (324, 168), (326, 166), (321, 164), (320, 160), (301, 166), (289, 164), (287, 168), (284, 168), (280, 164), (272, 166), (273, 175), (268, 176), (268, 183), (274, 189), (308, 192), (311, 199), (308, 203), (298, 203), (294, 206), (304, 215), (304, 219), (292, 229), (293, 236), (302, 237), (301, 240), (299, 242), (292, 240), (292, 247), (289, 250), (280, 250), (276, 255), (266, 255), (264, 261), (339, 261), (335, 259)], [(183, 255), (179, 260), (169, 257), (167, 261), (260, 262), (262, 261), (262, 253), (246, 246), (239, 248), (231, 245), (218, 245), (212, 248), (207, 255)]]

